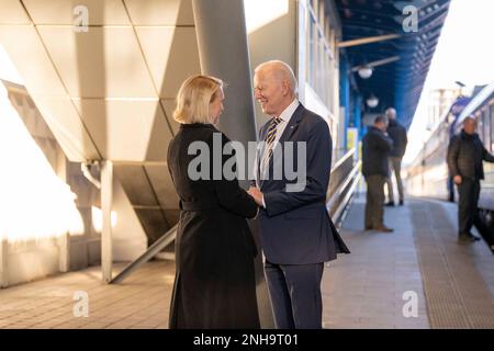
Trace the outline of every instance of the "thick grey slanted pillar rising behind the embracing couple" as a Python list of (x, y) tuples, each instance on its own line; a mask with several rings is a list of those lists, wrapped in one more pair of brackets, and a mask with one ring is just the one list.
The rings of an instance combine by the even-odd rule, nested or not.
[[(247, 146), (257, 139), (254, 92), (243, 0), (192, 0), (201, 71), (227, 83), (225, 111), (220, 129)], [(247, 148), (246, 148), (247, 150)], [(245, 165), (247, 167), (247, 160)], [(243, 174), (239, 174), (240, 177)], [(247, 176), (246, 176), (247, 178)], [(247, 181), (240, 181), (244, 186)], [(259, 244), (255, 223), (251, 229)], [(258, 245), (259, 246), (259, 245)], [(271, 306), (262, 273), (261, 254), (256, 260), (257, 301), (263, 328), (273, 328)], [(242, 302), (238, 302), (242, 304)]]

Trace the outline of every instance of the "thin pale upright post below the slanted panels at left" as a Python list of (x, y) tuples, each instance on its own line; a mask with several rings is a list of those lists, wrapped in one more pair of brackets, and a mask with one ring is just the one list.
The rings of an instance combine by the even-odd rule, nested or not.
[(112, 280), (113, 248), (112, 248), (112, 204), (113, 204), (113, 163), (103, 161), (101, 168), (101, 212), (103, 227), (101, 231), (101, 269), (103, 281)]

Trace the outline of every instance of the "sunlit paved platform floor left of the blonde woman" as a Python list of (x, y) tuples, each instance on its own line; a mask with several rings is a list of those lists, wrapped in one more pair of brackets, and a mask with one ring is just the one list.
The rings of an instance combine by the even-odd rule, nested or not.
[[(165, 329), (173, 278), (173, 262), (154, 261), (115, 285), (103, 283), (94, 267), (12, 286), (0, 291), (0, 328)], [(81, 291), (88, 293), (88, 317), (74, 315)]]

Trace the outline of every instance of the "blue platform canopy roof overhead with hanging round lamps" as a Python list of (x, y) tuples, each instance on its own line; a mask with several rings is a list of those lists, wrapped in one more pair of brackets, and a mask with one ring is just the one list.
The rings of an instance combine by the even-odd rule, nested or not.
[[(394, 106), (401, 123), (409, 126), (449, 2), (335, 1), (343, 27), (339, 45), (353, 68), (353, 86), (364, 100), (371, 95), (379, 99), (373, 109), (366, 104), (367, 112), (383, 112)], [(416, 26), (414, 16), (418, 20)], [(362, 79), (358, 68), (366, 64), (375, 67), (370, 78)]]

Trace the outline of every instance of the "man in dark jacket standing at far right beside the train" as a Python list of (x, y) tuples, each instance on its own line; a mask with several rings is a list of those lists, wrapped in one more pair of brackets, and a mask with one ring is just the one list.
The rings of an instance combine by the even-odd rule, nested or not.
[(480, 238), (470, 233), (478, 216), (476, 204), (480, 194), (480, 180), (484, 179), (482, 161), (494, 162), (494, 156), (484, 148), (476, 122), (472, 117), (463, 121), (463, 129), (454, 135), (448, 146), (448, 168), (458, 186), (458, 234), (460, 241), (475, 241)]

